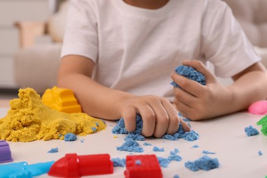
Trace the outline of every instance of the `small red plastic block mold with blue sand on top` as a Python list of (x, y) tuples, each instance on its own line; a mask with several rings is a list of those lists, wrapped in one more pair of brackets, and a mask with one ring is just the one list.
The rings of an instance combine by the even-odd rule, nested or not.
[(162, 178), (162, 169), (155, 155), (127, 155), (125, 178)]

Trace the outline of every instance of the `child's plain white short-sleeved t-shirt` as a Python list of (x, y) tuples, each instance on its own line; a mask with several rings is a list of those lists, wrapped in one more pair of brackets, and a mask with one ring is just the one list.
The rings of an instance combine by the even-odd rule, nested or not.
[(219, 0), (170, 0), (157, 10), (123, 0), (71, 0), (64, 55), (90, 58), (94, 79), (103, 86), (170, 101), (170, 73), (182, 60), (212, 62), (218, 77), (260, 60)]

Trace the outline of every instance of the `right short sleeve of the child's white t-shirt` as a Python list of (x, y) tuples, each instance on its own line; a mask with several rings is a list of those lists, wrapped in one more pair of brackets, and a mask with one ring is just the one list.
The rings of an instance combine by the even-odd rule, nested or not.
[(201, 29), (201, 53), (216, 76), (231, 77), (261, 60), (226, 3), (208, 1)]

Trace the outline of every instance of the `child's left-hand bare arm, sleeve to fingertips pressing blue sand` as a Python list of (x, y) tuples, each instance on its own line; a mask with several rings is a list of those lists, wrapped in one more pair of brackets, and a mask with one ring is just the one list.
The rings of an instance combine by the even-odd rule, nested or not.
[(177, 116), (175, 107), (167, 99), (155, 96), (136, 97), (127, 92), (113, 90), (91, 79), (94, 62), (80, 55), (62, 58), (58, 74), (58, 86), (70, 88), (90, 116), (116, 120), (125, 118), (127, 131), (136, 129), (136, 112), (142, 116), (143, 136), (161, 137), (173, 134), (182, 123), (183, 129), (190, 128)]

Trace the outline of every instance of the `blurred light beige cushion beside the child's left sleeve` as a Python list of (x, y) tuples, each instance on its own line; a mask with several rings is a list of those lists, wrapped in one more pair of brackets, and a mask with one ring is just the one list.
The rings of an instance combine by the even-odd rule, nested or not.
[(61, 3), (58, 12), (53, 14), (48, 20), (48, 33), (54, 42), (63, 41), (68, 3), (68, 1)]

